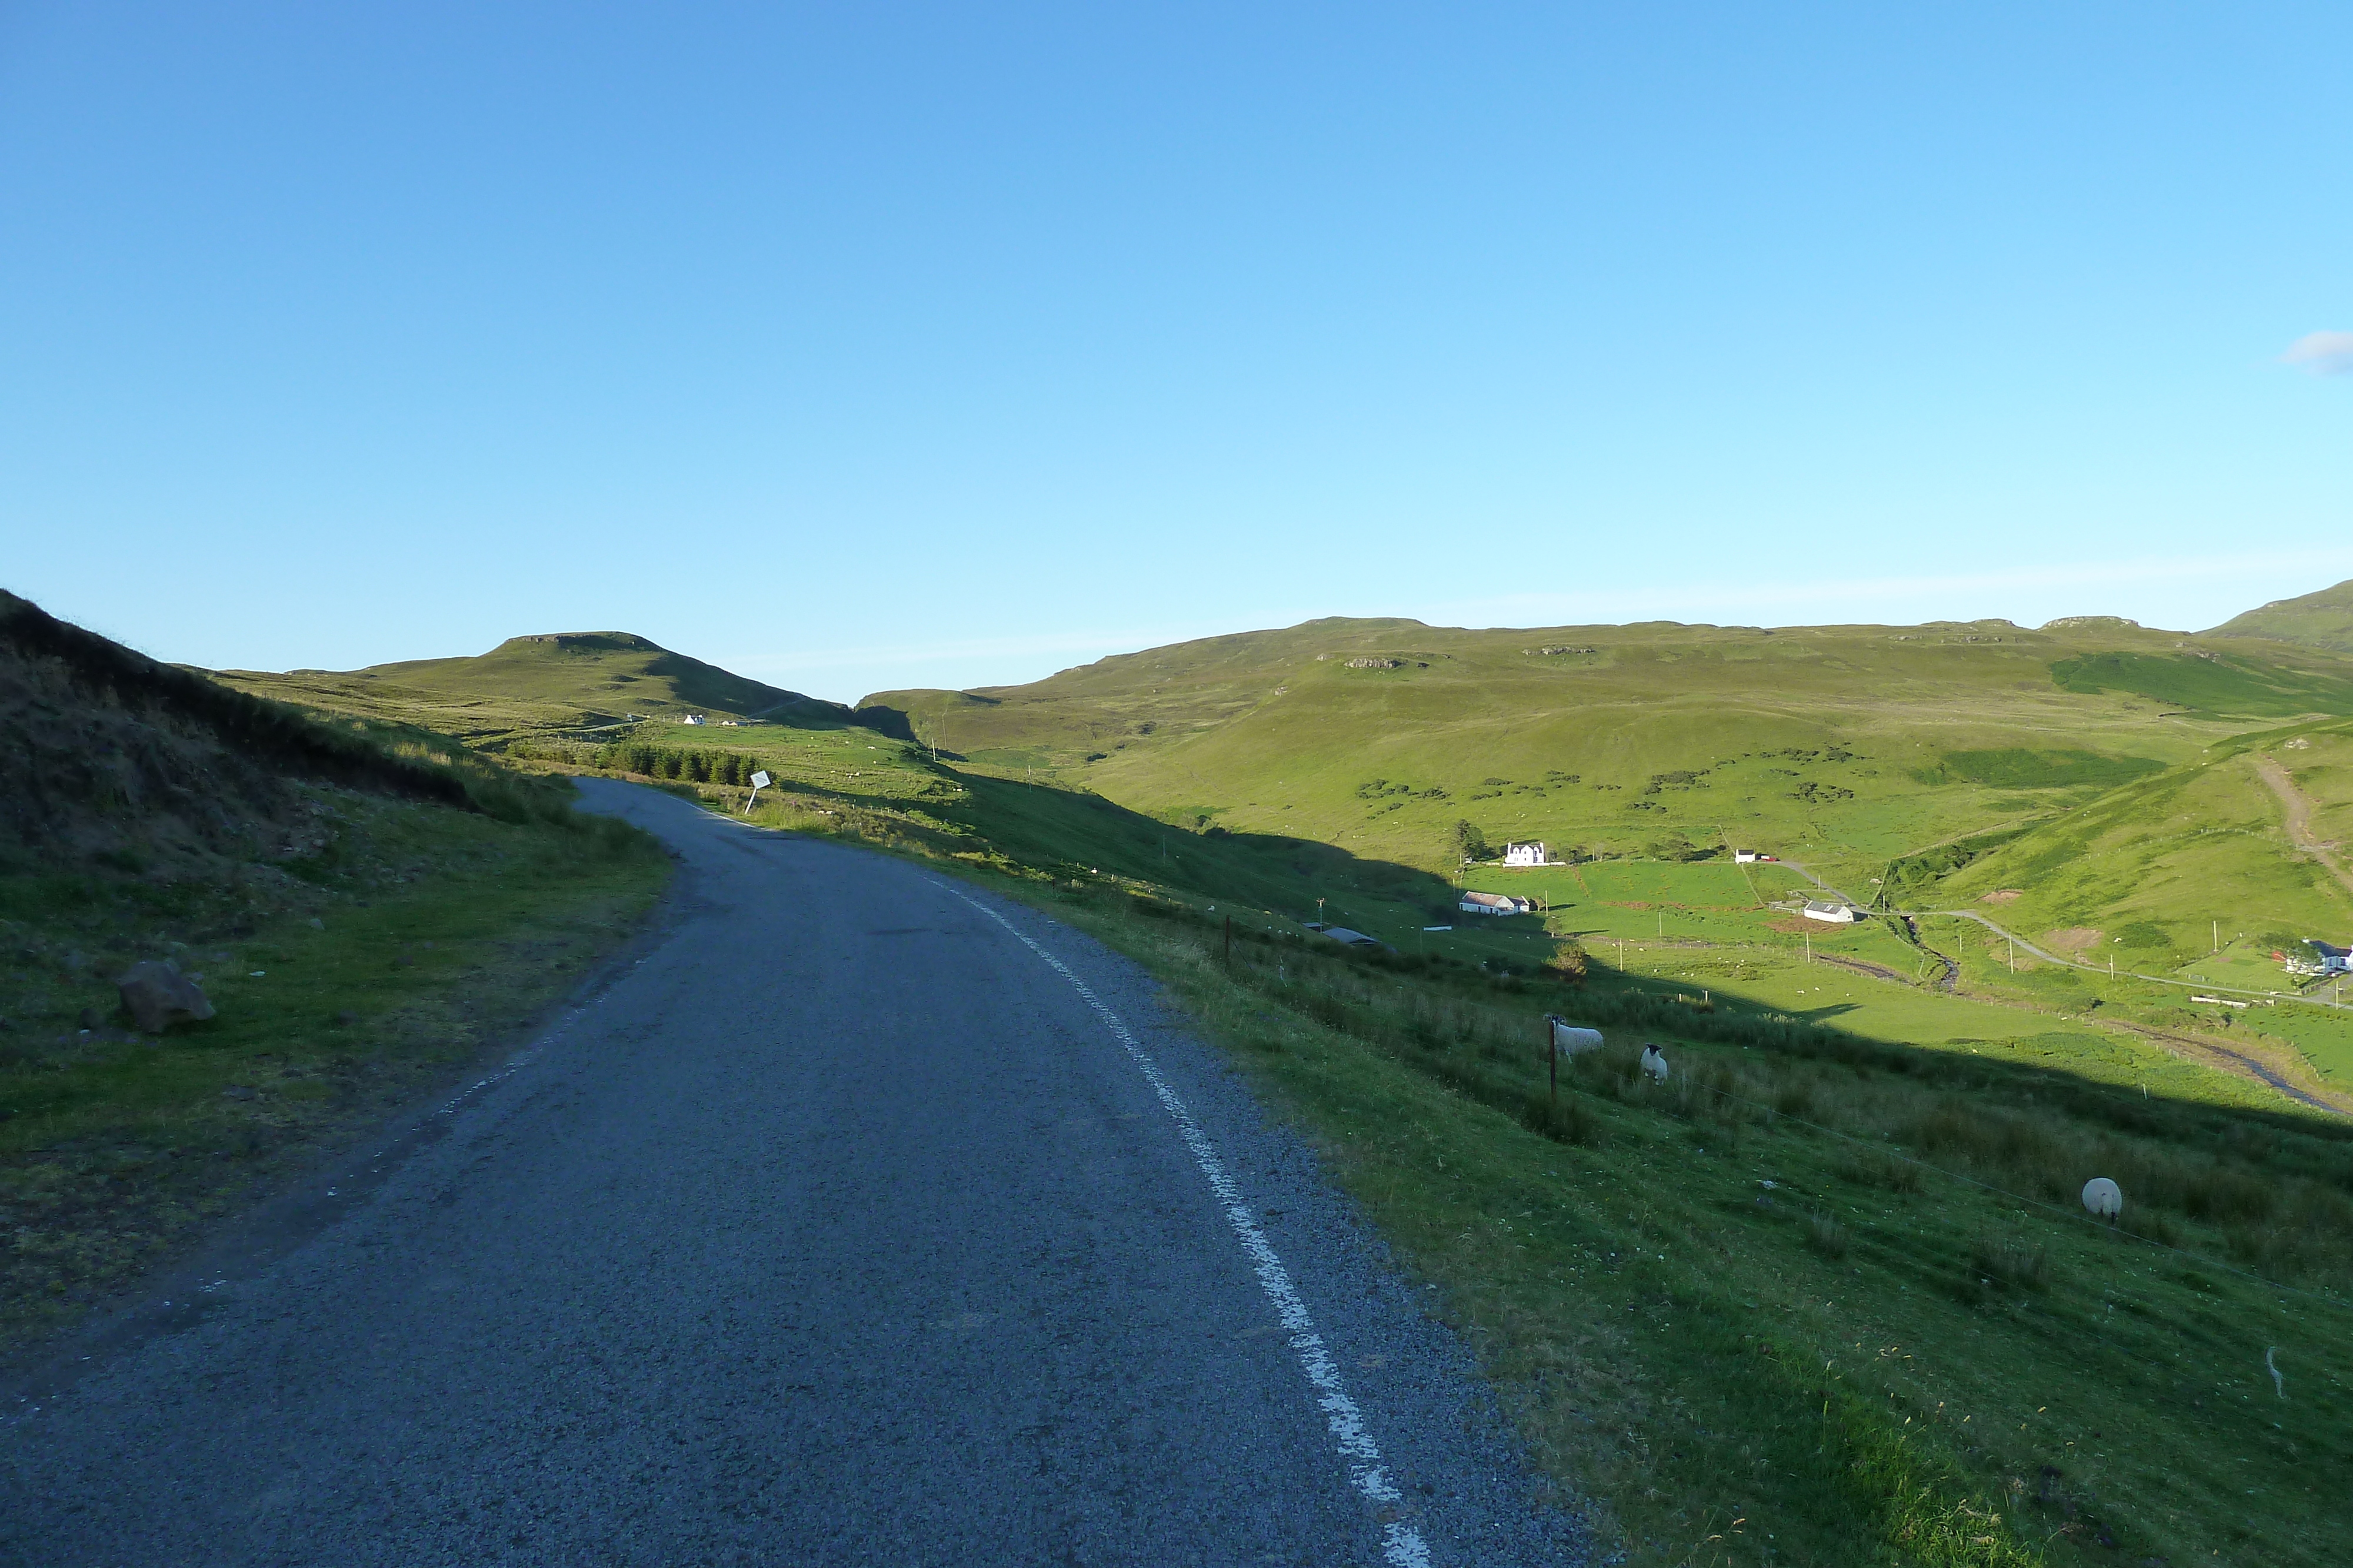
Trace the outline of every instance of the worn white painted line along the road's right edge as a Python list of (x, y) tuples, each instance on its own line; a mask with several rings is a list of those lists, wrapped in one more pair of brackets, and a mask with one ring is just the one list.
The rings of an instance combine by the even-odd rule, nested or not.
[[(1144, 1070), (1144, 1081), (1153, 1086), (1155, 1095), (1160, 1095), (1160, 1107), (1176, 1124), (1176, 1133), (1184, 1138), (1186, 1147), (1193, 1150), (1193, 1164), (1198, 1164), (1200, 1173), (1209, 1178), (1209, 1192), (1214, 1192), (1217, 1201), (1226, 1208), (1226, 1222), (1233, 1225), (1233, 1234), (1240, 1237), (1242, 1251), (1249, 1255), (1249, 1265), (1259, 1276), (1259, 1288), (1264, 1288), (1268, 1300), (1275, 1302), (1275, 1314), (1289, 1333), (1289, 1347), (1299, 1356), (1299, 1366), (1306, 1371), (1308, 1382), (1315, 1385), (1315, 1403), (1322, 1406), (1325, 1422), (1332, 1427), (1332, 1441), (1348, 1462), (1348, 1481), (1369, 1502), (1384, 1507), (1398, 1507), (1405, 1502), (1405, 1495), (1391, 1483), (1388, 1472), (1381, 1469), (1381, 1448), (1372, 1441), (1372, 1432), (1365, 1429), (1365, 1413), (1358, 1410), (1353, 1399), (1348, 1399), (1348, 1389), (1339, 1380), (1339, 1366), (1332, 1363), (1332, 1352), (1325, 1349), (1322, 1335), (1315, 1333), (1315, 1319), (1308, 1316), (1306, 1302), (1299, 1300), (1289, 1269), (1282, 1267), (1282, 1258), (1275, 1255), (1275, 1248), (1266, 1241), (1266, 1232), (1259, 1229), (1259, 1222), (1249, 1218), (1249, 1206), (1242, 1204), (1242, 1190), (1233, 1185), (1231, 1175), (1226, 1175), (1226, 1161), (1217, 1157), (1217, 1147), (1209, 1143), (1207, 1133), (1200, 1131), (1200, 1124), (1193, 1121), (1193, 1112), (1186, 1110), (1176, 1091), (1169, 1088), (1169, 1081), (1160, 1074), (1151, 1053), (1136, 1044), (1136, 1037), (1127, 1030), (1120, 1016), (1113, 1013), (1085, 980), (1071, 973), (1068, 964), (1033, 943), (1009, 919), (991, 910), (979, 898), (972, 898), (946, 882), (939, 886), (1005, 926), (1014, 940), (1045, 959), (1047, 966), (1068, 980), (1071, 990), (1075, 990), (1080, 999), (1094, 1009), (1094, 1016), (1104, 1020), (1111, 1037), (1118, 1039), (1120, 1046), (1127, 1048), (1127, 1056), (1134, 1058), (1136, 1067)], [(1393, 1519), (1381, 1526), (1381, 1556), (1393, 1563), (1393, 1568), (1428, 1568), (1431, 1563), (1431, 1549), (1424, 1544), (1421, 1530), (1402, 1519)]]

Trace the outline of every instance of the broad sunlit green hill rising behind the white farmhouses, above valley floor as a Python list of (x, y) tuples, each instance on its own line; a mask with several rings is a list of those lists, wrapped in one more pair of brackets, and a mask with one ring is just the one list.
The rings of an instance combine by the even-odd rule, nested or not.
[(1188, 827), (1417, 867), (1449, 863), (1457, 820), (1555, 853), (1758, 846), (1861, 896), (1889, 858), (2080, 806), (2282, 717), (2353, 715), (2353, 661), (2120, 621), (1311, 621), (861, 705), (882, 710), (974, 764)]

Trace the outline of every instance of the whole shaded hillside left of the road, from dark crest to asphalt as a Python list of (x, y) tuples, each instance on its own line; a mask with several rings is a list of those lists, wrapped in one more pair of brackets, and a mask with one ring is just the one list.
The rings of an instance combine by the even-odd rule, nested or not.
[[(445, 736), (318, 722), (0, 595), (0, 1359), (574, 985), (668, 877)], [(214, 1018), (139, 1034), (167, 961)]]

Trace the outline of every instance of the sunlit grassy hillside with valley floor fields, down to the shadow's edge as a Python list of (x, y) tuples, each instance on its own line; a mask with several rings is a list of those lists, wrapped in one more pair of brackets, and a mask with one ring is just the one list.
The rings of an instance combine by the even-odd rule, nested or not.
[[(1647, 961), (1633, 957), (1645, 938), (1699, 943), (1746, 954), (1758, 976), (1809, 945), (1805, 922), (1769, 907), (1807, 889), (1967, 910), (1977, 919), (1817, 929), (1812, 945), (1986, 1001), (2158, 1030), (2299, 1093), (2353, 1088), (2353, 1016), (2191, 1004), (2217, 987), (2292, 990), (2271, 957), (2282, 940), (2353, 936), (2353, 872), (2292, 835), (2257, 755), (2266, 736), (2301, 748), (2278, 759), (2308, 776), (2306, 837), (2353, 820), (2334, 750), (2353, 663), (2322, 649), (2113, 618), (2035, 632), (1322, 621), (868, 708), (906, 715), (972, 771), (1099, 790), (1193, 835), (1346, 849), (1362, 870), (1344, 898), (1381, 886), (1372, 867), (1452, 877), (1464, 820), (1494, 846), (1544, 839), (1602, 865), (1767, 849), (1805, 882), (1722, 867), (1708, 891), (1628, 898), (1607, 896), (1609, 872), (1591, 860), (1480, 865), (1468, 882), (1551, 900), (1541, 922), (1501, 922), (1487, 945), (1518, 929), (1522, 952), (1581, 938), (1614, 964), (1631, 940), (1633, 964)], [(1386, 940), (1428, 940), (1421, 910), (1355, 914)], [(2052, 966), (2101, 985), (2042, 973)], [(1791, 971), (1767, 990), (1788, 1001), (1800, 980)], [(2245, 1051), (2209, 1048), (2224, 1037)]]

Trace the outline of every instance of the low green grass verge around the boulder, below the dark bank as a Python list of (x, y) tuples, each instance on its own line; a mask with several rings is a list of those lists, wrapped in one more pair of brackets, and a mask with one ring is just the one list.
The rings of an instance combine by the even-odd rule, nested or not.
[[(494, 788), (499, 816), (306, 788), (325, 849), (219, 879), (0, 877), (0, 1354), (529, 1023), (640, 922), (668, 879), (652, 839)], [(136, 1037), (113, 976), (165, 957), (219, 1016)]]

